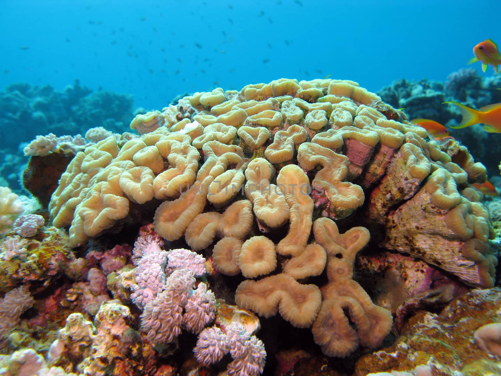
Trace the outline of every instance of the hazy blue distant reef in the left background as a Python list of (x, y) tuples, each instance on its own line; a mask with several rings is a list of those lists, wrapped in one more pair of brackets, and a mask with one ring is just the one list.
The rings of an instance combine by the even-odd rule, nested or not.
[[(109, 91), (93, 93), (79, 81), (63, 92), (49, 85), (12, 84), (0, 93), (2, 139), (30, 141), (36, 130), (50, 129), (60, 134), (85, 134), (89, 124), (109, 131), (122, 131), (132, 117), (132, 98)], [(12, 146), (9, 146), (12, 147)], [(17, 144), (14, 144), (17, 147)]]

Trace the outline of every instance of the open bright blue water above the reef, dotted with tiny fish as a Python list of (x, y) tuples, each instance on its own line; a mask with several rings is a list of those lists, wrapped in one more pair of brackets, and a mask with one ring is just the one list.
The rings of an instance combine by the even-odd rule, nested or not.
[[(82, 85), (161, 109), (172, 97), (287, 77), (443, 81), (501, 43), (501, 1), (2, 1), (0, 90)], [(477, 63), (473, 67), (480, 69)], [(491, 75), (489, 67), (487, 73)]]

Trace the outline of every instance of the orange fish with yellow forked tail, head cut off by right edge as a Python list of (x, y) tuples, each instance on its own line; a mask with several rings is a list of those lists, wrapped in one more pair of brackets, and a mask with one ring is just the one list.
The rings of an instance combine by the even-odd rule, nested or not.
[(473, 124), (485, 124), (483, 130), (489, 133), (501, 133), (501, 103), (489, 104), (478, 110), (466, 107), (464, 104), (457, 102), (443, 102), (451, 103), (457, 106), (463, 120), (453, 129), (466, 128)]

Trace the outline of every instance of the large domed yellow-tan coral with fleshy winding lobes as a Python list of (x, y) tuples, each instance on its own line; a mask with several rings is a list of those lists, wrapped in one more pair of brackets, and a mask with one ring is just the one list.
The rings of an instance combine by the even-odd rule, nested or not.
[[(51, 219), (70, 228), (75, 247), (134, 221), (130, 208), (151, 203), (159, 235), (213, 247), (216, 270), (249, 278), (237, 289), (245, 308), (313, 325), (328, 354), (374, 347), (391, 315), (352, 280), (366, 228), (379, 245), (466, 283), (494, 282), (488, 213), (470, 186), (485, 180), (485, 168), (457, 142), (439, 145), (400, 114), (346, 80), (195, 93), (135, 119), (140, 137), (108, 137), (79, 152), (52, 196)], [(322, 217), (330, 222), (317, 225)], [(333, 221), (366, 228), (340, 235)], [(341, 266), (339, 255), (347, 257)], [(321, 291), (308, 278), (324, 269), (329, 284)], [(348, 344), (329, 347), (322, 333), (336, 326), (329, 320), (343, 325), (337, 338)]]

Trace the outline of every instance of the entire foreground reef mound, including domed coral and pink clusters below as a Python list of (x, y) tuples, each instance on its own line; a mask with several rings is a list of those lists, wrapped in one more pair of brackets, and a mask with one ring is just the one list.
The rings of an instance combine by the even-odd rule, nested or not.
[[(89, 131), (50, 200), (49, 181), (37, 193), (29, 180), (50, 227), (21, 218), (24, 238), (14, 219), (6, 227), (0, 290), (32, 294), (11, 320), (7, 367), (365, 375), (486, 359), (475, 347), (450, 360), (430, 350), (447, 339), (422, 339), (454, 337), (448, 322), (460, 327), (468, 304), (492, 303), (469, 320), (470, 346), (497, 322), (498, 290), (463, 295), (494, 286), (499, 246), (472, 187), (486, 169), (458, 141), (437, 142), (378, 95), (331, 79), (194, 93), (130, 128), (139, 135)], [(55, 148), (31, 157), (33, 171), (54, 155), (64, 164)], [(425, 311), (451, 301), (448, 313)], [(497, 337), (477, 333), (495, 351)]]

